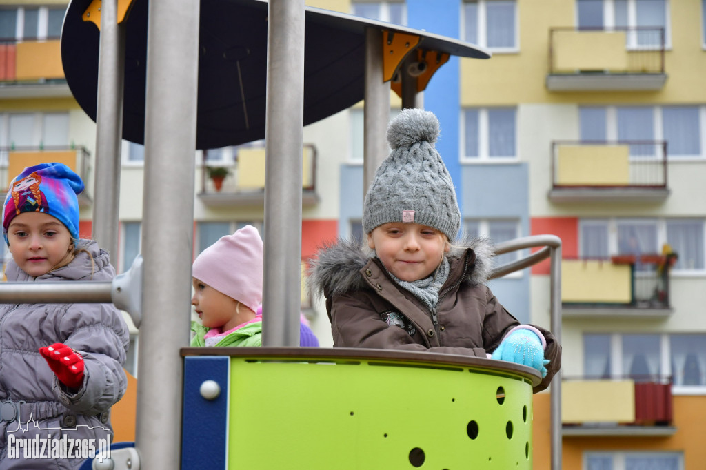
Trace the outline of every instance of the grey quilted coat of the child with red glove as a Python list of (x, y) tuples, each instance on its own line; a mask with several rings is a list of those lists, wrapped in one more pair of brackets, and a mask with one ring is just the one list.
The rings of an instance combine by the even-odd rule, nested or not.
[[(108, 253), (95, 241), (80, 240), (78, 246), (90, 256), (79, 252), (69, 265), (36, 279), (10, 260), (8, 282), (109, 281), (114, 277)], [(122, 314), (110, 303), (0, 304), (0, 402), (10, 401), (1, 405), (2, 411), (14, 406), (21, 421), (21, 426), (17, 420), (0, 421), (0, 470), (76, 469), (81, 463), (81, 459), (25, 460), (21, 448), (20, 458), (9, 458), (11, 434), (13, 442), (35, 435), (51, 435), (52, 440), (66, 435), (96, 447), (99, 439), (112, 435), (107, 411), (126, 390), (122, 365), (128, 340)], [(37, 351), (55, 342), (83, 356), (83, 385), (77, 392), (56, 379)]]

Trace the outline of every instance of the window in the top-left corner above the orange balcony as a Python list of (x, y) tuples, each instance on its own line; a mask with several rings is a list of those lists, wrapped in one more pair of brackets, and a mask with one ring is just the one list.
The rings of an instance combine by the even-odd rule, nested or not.
[(20, 6), (0, 9), (3, 40), (59, 39), (65, 6)]

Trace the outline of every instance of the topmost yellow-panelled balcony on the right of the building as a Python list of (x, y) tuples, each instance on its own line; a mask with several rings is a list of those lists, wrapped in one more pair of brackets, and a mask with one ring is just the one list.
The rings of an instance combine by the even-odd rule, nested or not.
[(551, 28), (551, 91), (661, 90), (664, 28)]

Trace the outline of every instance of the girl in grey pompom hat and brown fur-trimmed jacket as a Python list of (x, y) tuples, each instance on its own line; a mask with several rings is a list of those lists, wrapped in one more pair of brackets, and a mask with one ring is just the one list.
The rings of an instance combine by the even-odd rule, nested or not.
[[(542, 375), (561, 366), (561, 346), (520, 325), (485, 285), (493, 248), (456, 241), (461, 215), (434, 143), (436, 116), (404, 109), (388, 126), (392, 152), (366, 194), (358, 241), (339, 241), (311, 263), (311, 294), (323, 292), (335, 347), (405, 349), (512, 361)], [(453, 245), (451, 242), (454, 242)]]

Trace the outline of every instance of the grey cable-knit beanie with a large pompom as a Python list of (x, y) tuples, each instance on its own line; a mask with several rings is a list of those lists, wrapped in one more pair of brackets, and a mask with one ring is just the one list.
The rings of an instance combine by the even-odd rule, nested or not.
[(375, 173), (363, 207), (363, 231), (389, 222), (433, 227), (456, 239), (461, 212), (453, 181), (434, 143), (439, 121), (423, 109), (403, 109), (388, 125), (393, 149)]

